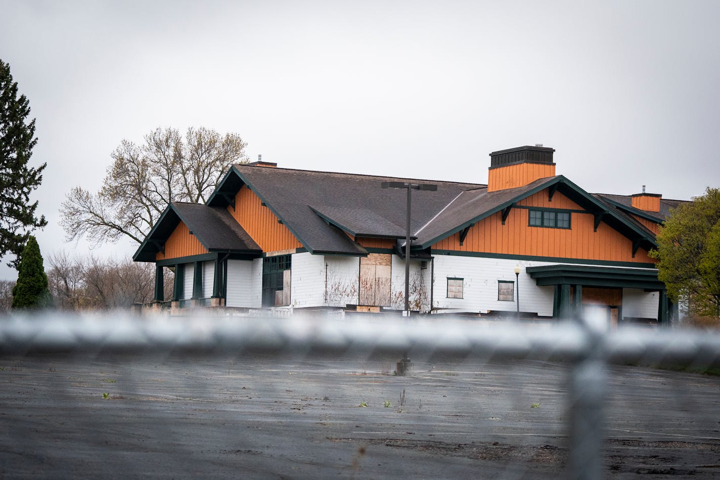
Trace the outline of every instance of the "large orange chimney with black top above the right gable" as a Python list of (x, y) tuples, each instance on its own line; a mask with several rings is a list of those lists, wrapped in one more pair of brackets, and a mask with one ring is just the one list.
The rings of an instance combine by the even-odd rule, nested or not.
[(524, 187), (537, 179), (554, 177), (552, 161), (554, 148), (522, 146), (498, 150), (490, 154), (490, 172), (487, 174), (487, 191)]

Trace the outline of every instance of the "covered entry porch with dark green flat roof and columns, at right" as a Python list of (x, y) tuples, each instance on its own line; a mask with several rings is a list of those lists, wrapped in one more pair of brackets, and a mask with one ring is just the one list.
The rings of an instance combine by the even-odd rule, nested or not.
[(623, 320), (623, 289), (657, 292), (657, 323), (669, 325), (678, 318), (678, 308), (665, 284), (652, 268), (595, 267), (589, 265), (543, 265), (527, 267), (537, 285), (554, 287), (553, 318), (570, 319), (587, 313), (588, 304), (608, 308), (612, 325)]

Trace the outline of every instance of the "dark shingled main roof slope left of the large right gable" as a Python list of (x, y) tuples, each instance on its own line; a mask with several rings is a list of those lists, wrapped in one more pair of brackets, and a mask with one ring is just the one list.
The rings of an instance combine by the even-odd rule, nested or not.
[(460, 192), (485, 187), (463, 182), (379, 177), (375, 175), (313, 172), (236, 164), (209, 205), (228, 205), (245, 184), (297, 237), (315, 253), (366, 254), (341, 231), (358, 236), (404, 237), (405, 190), (384, 189), (382, 182), (433, 183), (435, 192), (413, 190), (410, 228), (417, 231)]

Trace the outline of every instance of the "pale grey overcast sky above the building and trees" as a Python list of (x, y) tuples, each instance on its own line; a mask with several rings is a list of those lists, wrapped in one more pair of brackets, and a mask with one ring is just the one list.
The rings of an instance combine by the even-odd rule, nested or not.
[[(123, 138), (236, 132), (281, 167), (487, 182), (488, 154), (543, 143), (589, 192), (720, 187), (720, 1), (0, 0), (0, 58), (58, 208), (99, 189)], [(96, 253), (130, 257), (137, 245)], [(4, 266), (0, 278), (17, 272)], [(47, 267), (47, 262), (46, 262)]]

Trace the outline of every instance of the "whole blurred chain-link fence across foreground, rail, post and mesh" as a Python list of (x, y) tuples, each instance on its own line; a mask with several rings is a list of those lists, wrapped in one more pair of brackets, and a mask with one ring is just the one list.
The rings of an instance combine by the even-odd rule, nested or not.
[(48, 314), (0, 348), (7, 478), (720, 476), (708, 332)]

